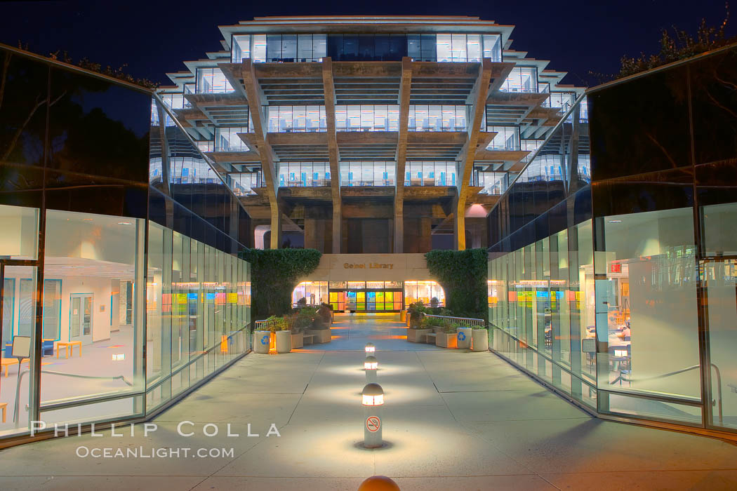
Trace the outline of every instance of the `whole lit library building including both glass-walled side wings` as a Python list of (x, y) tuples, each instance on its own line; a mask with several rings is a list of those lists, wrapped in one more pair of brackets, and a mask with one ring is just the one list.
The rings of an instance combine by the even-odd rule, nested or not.
[(242, 251), (287, 244), (323, 252), (295, 301), (368, 314), (444, 301), (424, 252), (488, 248), (488, 356), (734, 438), (737, 49), (584, 89), (512, 29), (256, 18), (158, 91), (0, 46), (0, 445), (245, 356)]

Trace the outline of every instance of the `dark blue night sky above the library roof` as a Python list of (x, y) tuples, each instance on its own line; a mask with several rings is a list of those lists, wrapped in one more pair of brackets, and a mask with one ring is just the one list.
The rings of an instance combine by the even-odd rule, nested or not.
[[(359, 7), (360, 6), (360, 7)], [(0, 42), (113, 68), (163, 85), (183, 60), (218, 51), (218, 25), (265, 15), (475, 15), (513, 24), (513, 49), (568, 71), (564, 83), (596, 85), (589, 71), (618, 71), (623, 54), (657, 52), (660, 29), (695, 33), (701, 18), (721, 24), (724, 1), (0, 1)], [(728, 35), (737, 34), (737, 1)]]

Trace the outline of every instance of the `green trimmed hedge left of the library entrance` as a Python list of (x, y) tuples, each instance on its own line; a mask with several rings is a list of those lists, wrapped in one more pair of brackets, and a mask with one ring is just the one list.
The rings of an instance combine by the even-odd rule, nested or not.
[(297, 279), (320, 264), (315, 249), (245, 249), (241, 257), (251, 263), (252, 319), (266, 319), (292, 311)]

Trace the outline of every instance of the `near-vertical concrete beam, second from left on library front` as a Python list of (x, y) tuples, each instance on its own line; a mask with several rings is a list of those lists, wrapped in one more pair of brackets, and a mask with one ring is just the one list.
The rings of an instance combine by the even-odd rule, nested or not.
[(338, 154), (338, 130), (335, 124), (335, 82), (332, 76), (332, 58), (322, 61), (322, 79), (325, 98), (325, 124), (327, 152), (330, 159), (330, 191), (332, 197), (332, 253), (340, 254), (343, 231), (343, 206), (340, 197), (340, 155)]

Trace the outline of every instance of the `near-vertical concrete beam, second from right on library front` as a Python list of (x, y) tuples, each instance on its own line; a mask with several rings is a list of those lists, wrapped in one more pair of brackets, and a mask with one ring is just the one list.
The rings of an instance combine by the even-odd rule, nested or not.
[(412, 58), (402, 58), (402, 79), (399, 82), (399, 136), (397, 138), (397, 176), (394, 186), (394, 252), (404, 252), (405, 163), (409, 133), (410, 93), (412, 89)]

